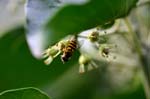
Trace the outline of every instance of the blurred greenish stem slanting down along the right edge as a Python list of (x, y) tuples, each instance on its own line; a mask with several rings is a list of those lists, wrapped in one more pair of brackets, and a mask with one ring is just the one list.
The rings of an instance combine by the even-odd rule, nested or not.
[(142, 46), (141, 46), (141, 43), (139, 41), (139, 38), (138, 36), (136, 35), (136, 33), (134, 32), (128, 18), (125, 18), (124, 19), (125, 21), (125, 24), (132, 36), (132, 40), (133, 40), (133, 44), (134, 44), (134, 47), (138, 53), (138, 58), (142, 64), (142, 70), (143, 70), (143, 73), (144, 73), (144, 89), (145, 89), (145, 93), (146, 93), (146, 97), (147, 99), (150, 99), (150, 73), (149, 73), (149, 66), (148, 66), (148, 62), (147, 62), (147, 57), (146, 55), (144, 55), (142, 53)]

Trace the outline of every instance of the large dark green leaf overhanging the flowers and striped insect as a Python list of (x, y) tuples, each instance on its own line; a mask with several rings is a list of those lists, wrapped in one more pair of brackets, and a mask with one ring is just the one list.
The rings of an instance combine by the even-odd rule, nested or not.
[(43, 35), (47, 35), (49, 43), (53, 44), (68, 34), (77, 34), (126, 16), (137, 1), (90, 0), (82, 5), (65, 6), (49, 20), (47, 34)]

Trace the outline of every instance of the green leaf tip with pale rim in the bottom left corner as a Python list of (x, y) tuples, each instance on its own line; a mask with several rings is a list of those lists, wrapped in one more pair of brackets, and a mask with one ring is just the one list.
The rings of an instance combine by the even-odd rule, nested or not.
[(36, 88), (20, 88), (7, 90), (0, 94), (0, 99), (50, 99)]

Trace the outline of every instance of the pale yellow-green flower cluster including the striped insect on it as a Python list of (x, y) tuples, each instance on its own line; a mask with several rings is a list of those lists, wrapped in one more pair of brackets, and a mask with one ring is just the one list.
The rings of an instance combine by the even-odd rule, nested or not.
[[(51, 46), (48, 49), (46, 49), (43, 54), (44, 58), (47, 58), (44, 61), (45, 64), (47, 65), (50, 64), (53, 61), (53, 59), (60, 54), (61, 54), (62, 62), (65, 63), (71, 58), (71, 56), (73, 55), (73, 52), (78, 49), (81, 53), (79, 57), (79, 65), (80, 65), (79, 73), (84, 73), (85, 71), (89, 71), (94, 68), (97, 68), (98, 65), (94, 62), (94, 58), (90, 56), (90, 54), (88, 54), (89, 52), (84, 53), (84, 51), (81, 51), (83, 49), (82, 45), (81, 47), (77, 47), (79, 46), (79, 43), (81, 43), (79, 39), (83, 38), (84, 41), (90, 42), (90, 44), (92, 44), (92, 47), (96, 49), (96, 51), (98, 51), (98, 53), (96, 54), (105, 58), (106, 60), (109, 60), (111, 49), (115, 47), (115, 45), (107, 44), (106, 37), (101, 36), (100, 31), (98, 29), (90, 32), (87, 35), (79, 34), (77, 36), (72, 36), (72, 37), (74, 37), (74, 39), (68, 38), (65, 40), (61, 40), (54, 46)], [(87, 47), (88, 44), (85, 46), (86, 47), (84, 48), (84, 50), (89, 50)]]

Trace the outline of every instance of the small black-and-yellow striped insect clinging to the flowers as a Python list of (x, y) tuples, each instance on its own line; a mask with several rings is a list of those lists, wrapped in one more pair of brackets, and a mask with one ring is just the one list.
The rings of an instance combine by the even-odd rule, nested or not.
[(61, 60), (63, 63), (67, 62), (73, 52), (77, 49), (77, 39), (73, 36), (69, 41), (68, 44), (62, 49), (63, 54), (61, 55)]

